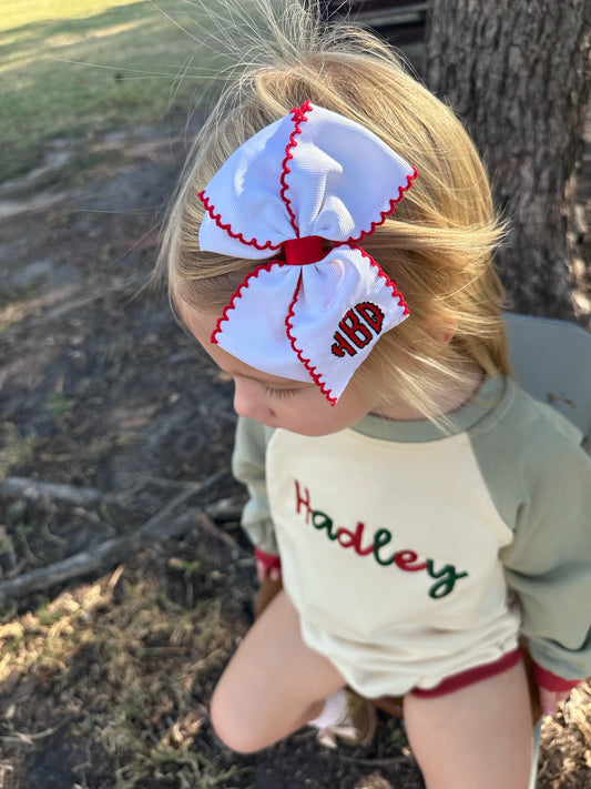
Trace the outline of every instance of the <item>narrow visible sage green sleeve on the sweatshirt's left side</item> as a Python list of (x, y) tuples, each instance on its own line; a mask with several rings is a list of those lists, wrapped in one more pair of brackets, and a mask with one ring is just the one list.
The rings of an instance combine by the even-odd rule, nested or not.
[(244, 530), (255, 547), (266, 554), (277, 555), (279, 552), (265, 484), (265, 452), (272, 434), (273, 428), (256, 419), (238, 417), (232, 472), (248, 490), (248, 500), (242, 512)]

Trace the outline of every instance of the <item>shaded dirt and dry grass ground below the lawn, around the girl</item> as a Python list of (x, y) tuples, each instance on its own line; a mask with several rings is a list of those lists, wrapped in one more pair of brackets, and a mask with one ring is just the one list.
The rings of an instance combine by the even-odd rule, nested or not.
[[(304, 731), (255, 757), (208, 724), (254, 564), (227, 473), (231, 384), (165, 297), (140, 292), (183, 156), (169, 130), (136, 129), (57, 143), (0, 186), (0, 479), (68, 486), (0, 483), (0, 583), (131, 535), (208, 482), (164, 518), (174, 536), (4, 603), (0, 789), (419, 789), (386, 717), (363, 750)], [(544, 727), (539, 789), (589, 787), (585, 686)]]

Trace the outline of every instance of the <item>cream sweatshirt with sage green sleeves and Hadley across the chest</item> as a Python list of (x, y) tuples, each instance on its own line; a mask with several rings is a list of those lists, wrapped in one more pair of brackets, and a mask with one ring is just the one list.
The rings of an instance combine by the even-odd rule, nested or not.
[(279, 554), (308, 646), (368, 697), (430, 689), (520, 635), (591, 674), (591, 458), (558, 413), (488, 378), (451, 415), (307, 437), (241, 419), (243, 525)]

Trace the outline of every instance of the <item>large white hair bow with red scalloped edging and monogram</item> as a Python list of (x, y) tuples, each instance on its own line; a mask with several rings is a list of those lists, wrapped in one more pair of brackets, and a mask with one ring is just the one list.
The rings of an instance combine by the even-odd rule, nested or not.
[[(241, 145), (200, 192), (200, 246), (259, 264), (212, 342), (272, 375), (310, 381), (334, 405), (376, 341), (408, 315), (356, 244), (417, 171), (359, 123), (305, 102)], [(324, 241), (334, 242), (325, 253)]]

